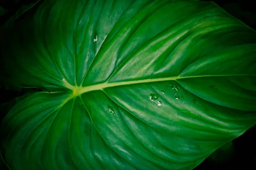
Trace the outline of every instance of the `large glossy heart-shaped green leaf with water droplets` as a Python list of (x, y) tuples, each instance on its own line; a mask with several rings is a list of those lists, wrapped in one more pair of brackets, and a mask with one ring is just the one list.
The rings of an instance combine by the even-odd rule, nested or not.
[[(256, 32), (211, 2), (45, 0), (5, 34), (15, 170), (191, 170), (256, 124)], [(53, 92), (53, 93), (52, 93)]]

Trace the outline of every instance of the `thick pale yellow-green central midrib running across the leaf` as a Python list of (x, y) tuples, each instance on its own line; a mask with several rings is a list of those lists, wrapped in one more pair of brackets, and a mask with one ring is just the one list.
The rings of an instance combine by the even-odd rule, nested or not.
[(89, 86), (73, 86), (73, 96), (79, 96), (81, 94), (90, 92), (90, 91), (97, 91), (103, 90), (104, 88), (122, 86), (122, 85), (133, 85), (133, 84), (140, 84), (140, 83), (149, 83), (149, 82), (163, 82), (163, 81), (171, 81), (177, 79), (189, 79), (189, 78), (200, 78), (200, 77), (227, 77), (227, 76), (253, 76), (248, 74), (231, 74), (231, 75), (203, 75), (203, 76), (177, 76), (177, 77), (165, 77), (165, 78), (156, 78), (156, 79), (143, 79), (143, 80), (133, 80), (133, 81), (123, 81), (123, 82), (103, 82), (96, 85), (89, 85)]

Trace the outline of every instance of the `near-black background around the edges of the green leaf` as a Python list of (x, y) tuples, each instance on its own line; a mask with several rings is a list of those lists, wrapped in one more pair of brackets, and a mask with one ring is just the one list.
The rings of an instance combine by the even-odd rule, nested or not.
[[(29, 5), (37, 0), (0, 0), (0, 25), (6, 22), (17, 9)], [(210, 1), (210, 0), (203, 0)], [(224, 8), (234, 17), (242, 20), (248, 26), (256, 30), (256, 0), (212, 0)], [(0, 73), (0, 104), (24, 94), (41, 91), (40, 89), (9, 88), (3, 81)], [(15, 101), (13, 102), (15, 103)], [(9, 110), (9, 105), (0, 107), (0, 122)], [(0, 170), (8, 168), (0, 161)], [(256, 170), (256, 126), (252, 127), (239, 138), (224, 145), (212, 153), (194, 170)]]

